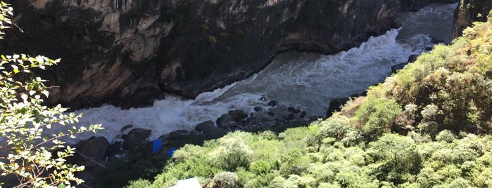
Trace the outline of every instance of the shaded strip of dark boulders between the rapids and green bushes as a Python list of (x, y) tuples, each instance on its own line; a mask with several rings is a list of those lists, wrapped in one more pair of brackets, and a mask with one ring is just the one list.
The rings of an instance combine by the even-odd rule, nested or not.
[[(133, 128), (127, 125), (120, 130), (121, 138), (113, 143), (106, 137), (90, 137), (83, 140), (76, 147), (75, 156), (68, 161), (83, 165), (86, 169), (77, 176), (86, 182), (91, 182), (101, 170), (105, 170), (112, 161), (125, 161), (128, 165), (141, 159), (148, 158), (153, 152), (163, 156), (169, 156), (173, 148), (179, 148), (185, 144), (201, 144), (204, 140), (211, 140), (234, 131), (257, 132), (263, 130), (275, 130), (281, 132), (289, 127), (307, 125), (317, 116), (308, 116), (306, 111), (288, 107), (275, 109), (278, 102), (270, 100), (266, 102), (275, 113), (262, 107), (255, 107), (254, 112), (246, 114), (241, 110), (231, 110), (222, 114), (220, 118), (198, 123), (194, 130), (175, 130), (171, 133), (160, 135), (156, 140), (151, 140), (152, 130)], [(158, 148), (158, 149), (156, 149)], [(155, 151), (153, 151), (153, 149)]]

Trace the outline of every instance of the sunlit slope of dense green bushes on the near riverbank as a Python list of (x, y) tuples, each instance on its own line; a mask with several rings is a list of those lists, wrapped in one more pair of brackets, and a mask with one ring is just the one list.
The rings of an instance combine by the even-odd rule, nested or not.
[(187, 145), (153, 185), (492, 187), (491, 31), (476, 23), (329, 119)]

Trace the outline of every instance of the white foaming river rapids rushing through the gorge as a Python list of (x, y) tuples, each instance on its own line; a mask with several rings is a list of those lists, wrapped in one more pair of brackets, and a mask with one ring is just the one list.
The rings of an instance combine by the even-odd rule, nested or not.
[[(401, 13), (400, 29), (371, 37), (358, 48), (334, 55), (289, 52), (275, 60), (258, 74), (232, 83), (213, 92), (202, 93), (196, 100), (167, 96), (153, 107), (122, 110), (110, 105), (77, 111), (84, 116), (79, 125), (102, 123), (108, 140), (120, 137), (121, 128), (152, 130), (152, 137), (173, 130), (194, 129), (197, 123), (213, 120), (231, 109), (253, 112), (263, 107), (276, 113), (296, 107), (308, 116), (324, 116), (329, 101), (362, 93), (369, 86), (384, 81), (391, 74), (391, 65), (406, 62), (408, 56), (422, 53), (433, 46), (431, 37), (450, 41), (453, 11), (457, 4), (432, 4), (417, 13)], [(277, 107), (267, 102), (277, 100)], [(272, 109), (270, 109), (272, 108)], [(91, 135), (82, 135), (84, 139)], [(72, 140), (75, 142), (76, 140)]]

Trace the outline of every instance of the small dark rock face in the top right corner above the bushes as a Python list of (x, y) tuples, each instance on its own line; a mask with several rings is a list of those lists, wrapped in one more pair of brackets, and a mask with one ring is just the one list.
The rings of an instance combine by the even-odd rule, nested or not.
[(455, 10), (453, 39), (461, 36), (463, 29), (472, 26), (473, 22), (485, 22), (491, 9), (492, 0), (461, 0)]

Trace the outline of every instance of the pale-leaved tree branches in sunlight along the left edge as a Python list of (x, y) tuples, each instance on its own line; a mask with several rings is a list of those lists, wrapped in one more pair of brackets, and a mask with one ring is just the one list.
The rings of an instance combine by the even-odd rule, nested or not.
[[(13, 9), (0, 2), (1, 30), (9, 28)], [(53, 187), (73, 182), (83, 182), (74, 173), (84, 170), (84, 166), (65, 163), (75, 149), (65, 146), (62, 137), (75, 137), (75, 134), (100, 129), (100, 125), (89, 128), (65, 128), (55, 134), (46, 130), (52, 126), (65, 126), (76, 123), (80, 115), (63, 113), (61, 105), (46, 107), (43, 98), (48, 97), (45, 80), (34, 77), (30, 69), (44, 69), (60, 60), (44, 56), (35, 58), (29, 55), (0, 56), (0, 170), (1, 175), (15, 175), (20, 184), (16, 187)], [(15, 81), (19, 77), (26, 81)], [(33, 78), (34, 77), (34, 78)], [(1, 185), (1, 184), (0, 184)]]

